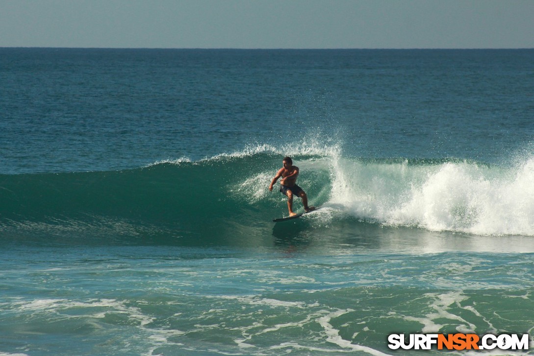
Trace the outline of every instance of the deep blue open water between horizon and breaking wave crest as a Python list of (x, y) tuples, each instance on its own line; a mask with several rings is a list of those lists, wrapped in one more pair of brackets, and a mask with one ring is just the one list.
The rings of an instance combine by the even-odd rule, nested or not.
[(501, 162), (533, 134), (532, 50), (1, 51), (8, 174), (316, 135), (350, 157)]

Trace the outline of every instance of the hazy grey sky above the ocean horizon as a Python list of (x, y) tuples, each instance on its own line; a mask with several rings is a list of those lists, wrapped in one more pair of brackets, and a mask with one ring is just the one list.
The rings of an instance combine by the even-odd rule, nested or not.
[(0, 0), (0, 47), (534, 48), (534, 0)]

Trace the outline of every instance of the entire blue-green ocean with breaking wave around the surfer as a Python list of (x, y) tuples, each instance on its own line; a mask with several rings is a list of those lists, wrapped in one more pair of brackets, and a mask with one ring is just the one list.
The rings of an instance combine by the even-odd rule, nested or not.
[(532, 340), (533, 64), (1, 48), (0, 355), (533, 355), (388, 347)]

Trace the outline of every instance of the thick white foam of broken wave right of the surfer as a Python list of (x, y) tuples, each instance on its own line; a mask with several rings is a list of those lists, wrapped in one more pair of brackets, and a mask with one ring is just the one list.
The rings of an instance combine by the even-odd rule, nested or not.
[(512, 168), (339, 159), (330, 204), (359, 219), (477, 235), (534, 236), (534, 158)]

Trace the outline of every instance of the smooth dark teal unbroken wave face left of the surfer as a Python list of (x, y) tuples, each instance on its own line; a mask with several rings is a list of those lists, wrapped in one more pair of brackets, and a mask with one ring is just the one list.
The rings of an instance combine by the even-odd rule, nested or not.
[[(0, 229), (208, 245), (261, 235), (258, 225), (270, 228), (287, 210), (281, 194), (265, 195), (278, 160), (253, 154), (117, 172), (2, 175)], [(302, 182), (314, 182), (308, 187), (314, 196), (327, 184), (321, 175), (302, 175)]]

